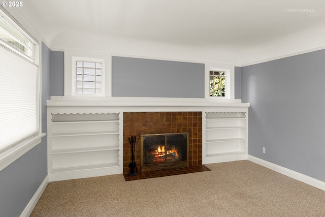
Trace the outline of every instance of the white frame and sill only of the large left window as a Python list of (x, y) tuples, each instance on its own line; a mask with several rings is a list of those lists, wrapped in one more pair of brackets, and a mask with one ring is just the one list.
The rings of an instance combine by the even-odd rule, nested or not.
[[(14, 26), (16, 29), (19, 30), (19, 32), (23, 33), (25, 37), (30, 39), (33, 43), (35, 43), (34, 46), (34, 58), (26, 58), (25, 55), (21, 54), (16, 49), (11, 48), (10, 45), (6, 45), (5, 43), (2, 43), (1, 46), (6, 47), (7, 49), (11, 50), (12, 52), (16, 53), (17, 55), (20, 55), (21, 58), (26, 58), (38, 67), (38, 75), (37, 75), (37, 94), (36, 94), (36, 100), (37, 100), (37, 129), (38, 134), (31, 136), (17, 144), (14, 144), (13, 146), (3, 150), (0, 152), (0, 171), (9, 166), (11, 163), (16, 161), (18, 158), (23, 156), (27, 151), (29, 151), (31, 148), (35, 147), (39, 143), (41, 143), (41, 139), (43, 136), (45, 136), (45, 133), (41, 133), (41, 45), (39, 45), (39, 42), (41, 42), (41, 37), (36, 33), (35, 29), (30, 27), (30, 25), (25, 21), (25, 19), (14, 9), (14, 8), (7, 8), (7, 11), (0, 9), (0, 15), (7, 19), (7, 21)], [(27, 28), (23, 28), (23, 26)], [(38, 39), (38, 40), (37, 40)]]

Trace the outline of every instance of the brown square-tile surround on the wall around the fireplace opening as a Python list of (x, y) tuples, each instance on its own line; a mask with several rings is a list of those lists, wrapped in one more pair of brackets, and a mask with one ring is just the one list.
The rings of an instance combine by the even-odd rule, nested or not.
[(202, 165), (202, 112), (124, 112), (123, 174), (132, 161), (128, 138), (136, 136), (135, 159), (140, 171), (140, 135), (189, 132), (189, 166)]

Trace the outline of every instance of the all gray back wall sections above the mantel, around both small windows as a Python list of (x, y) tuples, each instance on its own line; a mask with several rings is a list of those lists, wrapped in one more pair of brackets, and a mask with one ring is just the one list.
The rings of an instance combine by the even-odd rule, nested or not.
[[(112, 60), (113, 97), (204, 98), (204, 64), (116, 56)], [(51, 51), (51, 96), (63, 96), (63, 88), (64, 52)], [(241, 99), (240, 67), (235, 67), (235, 99)]]

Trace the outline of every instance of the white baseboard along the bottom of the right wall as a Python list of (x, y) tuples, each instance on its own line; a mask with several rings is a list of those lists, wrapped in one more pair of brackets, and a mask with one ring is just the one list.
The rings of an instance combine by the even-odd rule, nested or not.
[(256, 164), (259, 164), (261, 166), (264, 166), (266, 168), (269, 168), (271, 170), (274, 170), (276, 172), (279, 172), (283, 175), (286, 175), (286, 176), (289, 176), (290, 178), (294, 178), (298, 181), (302, 181), (306, 184), (309, 184), (317, 189), (321, 189), (323, 191), (325, 191), (325, 182), (323, 181), (320, 181), (318, 179), (315, 179), (315, 178), (312, 178), (310, 176), (307, 176), (307, 175), (304, 175), (304, 174), (301, 174), (301, 173), (298, 173), (296, 171), (293, 171), (293, 170), (289, 170), (285, 167), (281, 167), (279, 165), (276, 165), (276, 164), (273, 164), (273, 163), (270, 163), (268, 161), (265, 161), (265, 160), (262, 160), (262, 159), (259, 159), (259, 158), (256, 158), (256, 157), (253, 157), (253, 156), (250, 156), (248, 155), (247, 157), (247, 160), (248, 161), (251, 161), (251, 162), (254, 162)]

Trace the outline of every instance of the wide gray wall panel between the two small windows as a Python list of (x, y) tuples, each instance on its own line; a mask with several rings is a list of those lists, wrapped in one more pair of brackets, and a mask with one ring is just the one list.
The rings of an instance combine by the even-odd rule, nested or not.
[(204, 98), (204, 64), (112, 57), (113, 97)]

